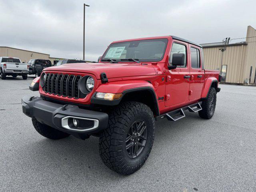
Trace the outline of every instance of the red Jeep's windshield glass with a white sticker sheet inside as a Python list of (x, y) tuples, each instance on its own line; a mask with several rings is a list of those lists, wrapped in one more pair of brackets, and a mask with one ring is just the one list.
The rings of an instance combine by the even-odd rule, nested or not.
[[(149, 39), (113, 43), (108, 46), (101, 60), (117, 62), (137, 59), (140, 62), (158, 62), (163, 59), (168, 39)], [(125, 61), (127, 62), (127, 61)]]

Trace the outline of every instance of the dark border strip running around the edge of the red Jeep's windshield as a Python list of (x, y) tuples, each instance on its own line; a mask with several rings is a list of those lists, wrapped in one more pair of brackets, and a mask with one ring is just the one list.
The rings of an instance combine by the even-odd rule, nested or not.
[(102, 57), (100, 58), (100, 61), (101, 62), (109, 62), (109, 61), (102, 61), (102, 60), (107, 60), (107, 59), (112, 59), (116, 62), (134, 62), (134, 61), (126, 61), (126, 60), (121, 60), (121, 59), (125, 59), (125, 58), (105, 58), (106, 54), (108, 53), (108, 50), (112, 47), (112, 45), (114, 44), (124, 44), (124, 43), (130, 43), (130, 42), (136, 42), (136, 41), (142, 41), (142, 42), (145, 42), (145, 41), (160, 41), (160, 40), (166, 40), (166, 44), (165, 44), (165, 47), (164, 47), (164, 50), (163, 50), (163, 55), (161, 58), (148, 58), (148, 59), (139, 59), (139, 58), (133, 58), (133, 59), (139, 59), (138, 61), (139, 62), (160, 62), (163, 60), (164, 56), (165, 56), (165, 53), (166, 53), (166, 48), (168, 46), (168, 38), (152, 38), (152, 39), (138, 39), (138, 40), (128, 40), (128, 41), (122, 41), (122, 42), (114, 42), (114, 43), (111, 43), (108, 48), (106, 49), (106, 51), (104, 52), (104, 54), (102, 55)]

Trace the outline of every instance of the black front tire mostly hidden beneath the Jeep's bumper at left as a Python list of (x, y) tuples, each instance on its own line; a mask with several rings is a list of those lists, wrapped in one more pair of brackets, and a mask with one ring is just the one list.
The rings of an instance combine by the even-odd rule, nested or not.
[(48, 139), (62, 139), (62, 138), (65, 138), (65, 137), (68, 137), (69, 134), (67, 133), (64, 133), (62, 131), (59, 131), (57, 129), (54, 129), (48, 125), (45, 125), (45, 124), (42, 124), (40, 123), (38, 120), (36, 120), (35, 118), (32, 118), (32, 123), (33, 123), (33, 126), (34, 128), (36, 129), (36, 131), (48, 138)]

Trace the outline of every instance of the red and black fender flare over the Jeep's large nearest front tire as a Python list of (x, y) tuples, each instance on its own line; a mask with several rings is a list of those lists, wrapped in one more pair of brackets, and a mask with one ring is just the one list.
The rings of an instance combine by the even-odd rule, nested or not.
[[(156, 97), (156, 92), (154, 87), (149, 82), (143, 80), (132, 80), (132, 81), (121, 81), (121, 82), (110, 82), (107, 84), (100, 85), (91, 98), (91, 103), (93, 104), (100, 104), (100, 105), (107, 105), (107, 106), (115, 106), (120, 104), (122, 98), (128, 93), (131, 92), (138, 92), (147, 90), (150, 92), (154, 102), (154, 110), (156, 115), (159, 115), (159, 107)], [(105, 100), (102, 98), (96, 98), (97, 92), (104, 92), (104, 93), (122, 93), (122, 97), (116, 100)]]

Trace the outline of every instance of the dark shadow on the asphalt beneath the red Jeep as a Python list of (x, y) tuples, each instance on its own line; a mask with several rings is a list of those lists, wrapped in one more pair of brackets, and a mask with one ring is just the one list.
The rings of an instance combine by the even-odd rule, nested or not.
[[(161, 164), (161, 161), (157, 158), (158, 152), (165, 153), (165, 148), (162, 147), (161, 143), (171, 143), (173, 139), (177, 140), (180, 135), (193, 132), (193, 127), (190, 125), (188, 128), (186, 125), (192, 119), (195, 121), (195, 118), (196, 114), (192, 114), (178, 122), (170, 122), (166, 119), (156, 122), (154, 146), (146, 164), (149, 164), (149, 167), (152, 162), (156, 163), (157, 161)], [(198, 119), (200, 118), (198, 117)], [(50, 140), (40, 136), (39, 140), (30, 143), (28, 147), (30, 150), (26, 152), (26, 156), (34, 160), (30, 161), (31, 167), (38, 166), (38, 162), (40, 162), (41, 166), (47, 167), (51, 172), (59, 172), (59, 174), (68, 172), (75, 174), (76, 177), (84, 177), (82, 173), (86, 173), (87, 179), (91, 178), (92, 181), (93, 177), (90, 177), (92, 175), (98, 175), (106, 179), (111, 178), (112, 180), (127, 177), (117, 174), (103, 164), (98, 150), (98, 138), (96, 137), (90, 137), (83, 141), (73, 136), (62, 140)], [(144, 169), (150, 170), (149, 167), (145, 165), (134, 174), (142, 174), (145, 171)]]

